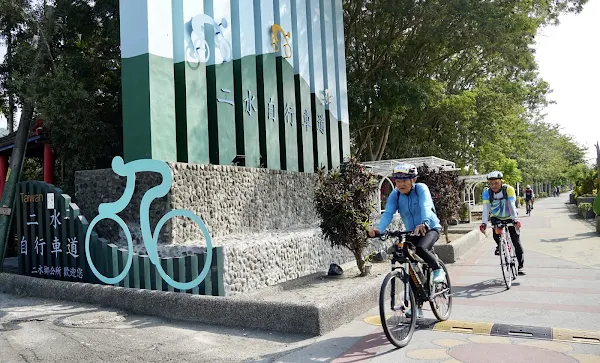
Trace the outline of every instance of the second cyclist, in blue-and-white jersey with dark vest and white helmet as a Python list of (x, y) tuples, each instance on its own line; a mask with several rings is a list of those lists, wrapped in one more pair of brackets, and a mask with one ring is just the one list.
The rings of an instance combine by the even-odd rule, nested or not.
[[(487, 180), (489, 184), (489, 188), (486, 188), (481, 198), (483, 200), (483, 214), (482, 214), (482, 223), (479, 227), (481, 232), (485, 232), (487, 228), (488, 215), (491, 215), (492, 225), (499, 224), (500, 222), (509, 222), (514, 224), (517, 228), (521, 228), (521, 222), (518, 220), (517, 215), (517, 206), (515, 202), (517, 200), (517, 195), (515, 193), (515, 189), (508, 184), (504, 184), (503, 175), (499, 171), (493, 171), (487, 175)], [(510, 233), (510, 239), (515, 246), (515, 253), (517, 255), (517, 260), (519, 261), (519, 275), (525, 275), (525, 270), (523, 268), (523, 247), (521, 246), (521, 241), (519, 239), (519, 233), (517, 232), (517, 228), (515, 226), (508, 227), (508, 232)], [(495, 254), (500, 254), (500, 235), (496, 234), (496, 231), (493, 231), (494, 240), (496, 241), (496, 251)]]

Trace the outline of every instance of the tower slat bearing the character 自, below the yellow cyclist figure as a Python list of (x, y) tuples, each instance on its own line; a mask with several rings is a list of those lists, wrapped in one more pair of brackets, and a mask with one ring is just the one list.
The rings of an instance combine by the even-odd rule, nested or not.
[(280, 169), (277, 62), (271, 46), (271, 26), (274, 22), (273, 1), (254, 0), (261, 166)]

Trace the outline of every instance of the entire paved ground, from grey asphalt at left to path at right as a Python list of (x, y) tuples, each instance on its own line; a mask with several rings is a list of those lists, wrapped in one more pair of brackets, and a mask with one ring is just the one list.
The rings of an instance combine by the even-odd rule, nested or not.
[[(600, 362), (600, 236), (566, 201), (540, 200), (522, 217), (528, 274), (510, 290), (491, 238), (449, 266), (452, 321), (403, 349), (387, 342), (375, 306), (314, 338), (0, 294), (0, 362)], [(533, 336), (508, 334), (519, 329)]]

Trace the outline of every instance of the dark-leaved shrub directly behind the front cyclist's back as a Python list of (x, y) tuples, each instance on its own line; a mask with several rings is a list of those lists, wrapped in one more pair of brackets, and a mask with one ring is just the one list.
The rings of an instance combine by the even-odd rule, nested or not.
[(428, 165), (420, 166), (418, 171), (418, 181), (429, 188), (446, 243), (450, 243), (448, 222), (458, 215), (461, 206), (460, 193), (465, 183), (459, 181), (456, 171), (443, 171), (441, 168), (436, 171)]

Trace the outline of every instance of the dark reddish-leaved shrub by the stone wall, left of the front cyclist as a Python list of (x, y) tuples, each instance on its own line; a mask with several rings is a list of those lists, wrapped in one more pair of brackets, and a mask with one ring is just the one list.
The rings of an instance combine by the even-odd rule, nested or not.
[(332, 247), (352, 252), (361, 276), (365, 276), (362, 255), (368, 245), (366, 228), (377, 191), (377, 179), (355, 158), (346, 159), (338, 170), (317, 172), (314, 203), (323, 236)]

